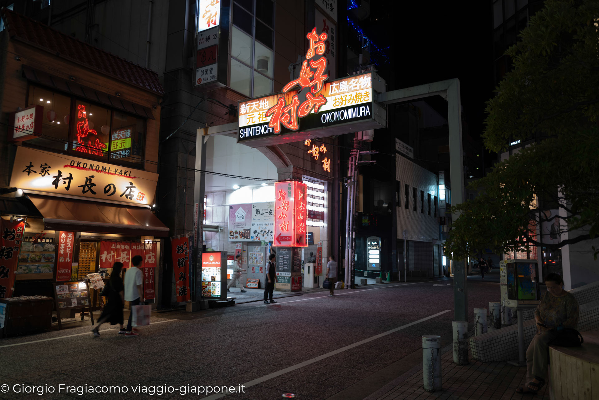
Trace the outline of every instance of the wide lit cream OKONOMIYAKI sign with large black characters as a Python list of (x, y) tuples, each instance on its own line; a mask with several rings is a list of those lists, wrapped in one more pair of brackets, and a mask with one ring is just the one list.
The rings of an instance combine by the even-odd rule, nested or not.
[(53, 196), (152, 204), (158, 174), (19, 146), (10, 185)]

